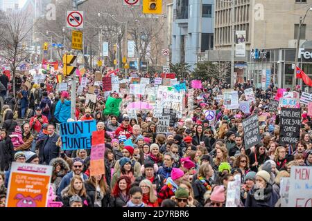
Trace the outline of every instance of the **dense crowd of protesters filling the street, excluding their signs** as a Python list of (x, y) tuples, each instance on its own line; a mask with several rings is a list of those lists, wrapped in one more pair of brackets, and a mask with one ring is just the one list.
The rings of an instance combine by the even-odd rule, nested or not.
[[(92, 86), (94, 73), (87, 71), (85, 76)], [(128, 76), (119, 74), (119, 79)], [(150, 78), (153, 85), (155, 75), (140, 76)], [(30, 73), (16, 75), (15, 99), (9, 88), (12, 79), (0, 74), (0, 88), (5, 89), (1, 93), (0, 207), (6, 205), (12, 162), (51, 165), (51, 191), (65, 207), (223, 207), (227, 184), (236, 174), (241, 176), (239, 206), (280, 206), (281, 177), (290, 176), (291, 166), (312, 165), (312, 124), (305, 106), (299, 142), (279, 143), (277, 111), (268, 111), (277, 93), (274, 84), (262, 90), (248, 80), (232, 88), (240, 101), (245, 100), (244, 89), (254, 88), (256, 102), (245, 115), (239, 109), (227, 110), (223, 99), (216, 99), (229, 85), (202, 81), (202, 89), (193, 90), (193, 109), (164, 134), (156, 133), (158, 119), (150, 110), (138, 110), (137, 119), (125, 110), (104, 115), (106, 97), (101, 86), (94, 90), (94, 110), (85, 106), (88, 86), (77, 96), (76, 119), (71, 119), (71, 95), (55, 90), (55, 74), (48, 71), (44, 82), (28, 88), (26, 81), (32, 79)], [(191, 88), (189, 81), (180, 81)], [(119, 91), (110, 95), (125, 98)], [(206, 119), (207, 110), (216, 111), (214, 122)], [(242, 121), (253, 114), (266, 116), (260, 124), (261, 143), (245, 148)], [(98, 176), (89, 172), (90, 150), (62, 151), (56, 131), (58, 124), (90, 119), (96, 120), (98, 131), (105, 131), (105, 174)], [(125, 145), (128, 139), (132, 146)], [(255, 195), (259, 189), (262, 198)]]

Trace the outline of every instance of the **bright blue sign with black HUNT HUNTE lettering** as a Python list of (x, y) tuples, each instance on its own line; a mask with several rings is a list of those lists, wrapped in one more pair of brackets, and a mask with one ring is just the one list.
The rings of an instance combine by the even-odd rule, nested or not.
[(60, 124), (62, 150), (91, 149), (93, 131), (96, 131), (95, 120)]

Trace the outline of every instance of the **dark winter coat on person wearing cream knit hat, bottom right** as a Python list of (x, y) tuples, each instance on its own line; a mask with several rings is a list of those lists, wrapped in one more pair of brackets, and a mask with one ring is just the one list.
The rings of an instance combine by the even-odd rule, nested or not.
[[(264, 189), (264, 194), (256, 193), (257, 189), (255, 186), (248, 192), (247, 198), (245, 201), (245, 207), (274, 207), (279, 200), (277, 193), (272, 188), (271, 184), (267, 184)], [(257, 194), (258, 198), (262, 198), (260, 200), (255, 199), (255, 194)], [(256, 198), (257, 198), (256, 197)]]

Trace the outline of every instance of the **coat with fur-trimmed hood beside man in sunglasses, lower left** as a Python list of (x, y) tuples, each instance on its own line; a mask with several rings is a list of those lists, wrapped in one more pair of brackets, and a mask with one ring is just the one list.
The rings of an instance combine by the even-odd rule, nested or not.
[[(58, 165), (60, 165), (61, 167), (60, 172), (55, 171), (56, 166)], [(69, 165), (61, 157), (57, 157), (51, 160), (50, 166), (53, 166), (51, 183), (54, 184), (55, 190), (57, 190), (58, 187), (60, 186), (60, 182), (62, 181), (62, 178), (64, 177), (64, 175), (67, 175), (67, 173), (70, 171)]]

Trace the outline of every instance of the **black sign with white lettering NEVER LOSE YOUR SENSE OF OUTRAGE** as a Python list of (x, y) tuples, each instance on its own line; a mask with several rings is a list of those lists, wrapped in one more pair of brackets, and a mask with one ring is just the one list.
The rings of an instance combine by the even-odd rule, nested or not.
[(279, 142), (281, 144), (296, 144), (300, 137), (300, 125), (300, 108), (281, 108)]

